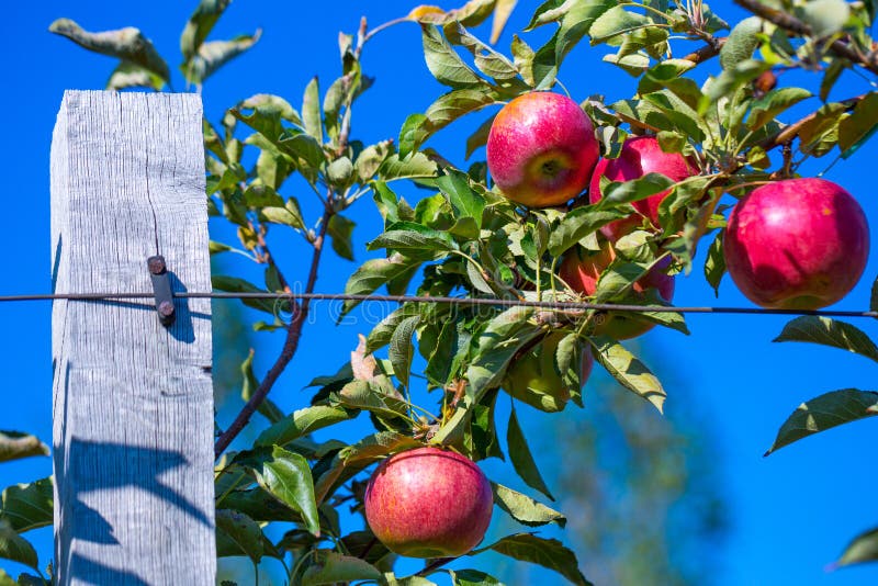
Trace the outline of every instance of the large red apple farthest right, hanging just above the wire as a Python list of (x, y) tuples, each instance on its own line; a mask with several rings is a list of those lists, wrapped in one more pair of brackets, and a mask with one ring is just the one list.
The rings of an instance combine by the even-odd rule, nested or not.
[(762, 307), (817, 309), (844, 297), (869, 256), (857, 201), (825, 179), (786, 179), (753, 190), (723, 237), (729, 274)]

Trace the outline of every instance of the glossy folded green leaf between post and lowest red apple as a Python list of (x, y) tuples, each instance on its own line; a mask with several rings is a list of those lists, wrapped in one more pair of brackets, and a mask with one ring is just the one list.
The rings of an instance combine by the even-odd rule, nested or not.
[(274, 446), (271, 457), (254, 471), (257, 482), (278, 500), (301, 514), (308, 531), (319, 537), (320, 521), (307, 460), (280, 446)]

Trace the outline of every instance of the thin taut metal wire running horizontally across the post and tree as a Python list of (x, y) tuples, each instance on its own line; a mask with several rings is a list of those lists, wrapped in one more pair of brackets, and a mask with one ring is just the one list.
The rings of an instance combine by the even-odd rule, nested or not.
[[(773, 309), (764, 307), (711, 307), (711, 306), (667, 306), (630, 305), (615, 303), (588, 303), (567, 301), (502, 300), (494, 297), (443, 297), (418, 295), (360, 295), (348, 293), (272, 293), (272, 292), (227, 292), (227, 291), (177, 291), (176, 298), (212, 300), (311, 300), (311, 301), (357, 301), (384, 303), (441, 303), (451, 305), (534, 307), (559, 311), (622, 312), (622, 313), (677, 313), (677, 314), (739, 314), (739, 315), (812, 315), (822, 317), (878, 317), (874, 311), (842, 309)], [(155, 298), (155, 293), (37, 293), (23, 295), (0, 295), (0, 302), (25, 301), (114, 301), (134, 298)]]

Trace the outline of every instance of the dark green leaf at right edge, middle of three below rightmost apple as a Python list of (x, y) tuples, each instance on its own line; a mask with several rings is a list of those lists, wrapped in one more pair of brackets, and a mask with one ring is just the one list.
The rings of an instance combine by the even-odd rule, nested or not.
[(806, 401), (792, 412), (765, 455), (808, 436), (878, 415), (878, 393), (843, 388)]

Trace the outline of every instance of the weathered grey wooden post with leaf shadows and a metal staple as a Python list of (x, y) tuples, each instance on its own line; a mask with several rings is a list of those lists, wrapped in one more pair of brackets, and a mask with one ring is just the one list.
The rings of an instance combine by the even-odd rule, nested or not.
[[(52, 144), (56, 293), (210, 291), (201, 100), (68, 91)], [(59, 584), (215, 582), (210, 300), (56, 301)]]

